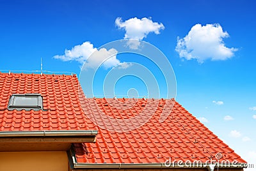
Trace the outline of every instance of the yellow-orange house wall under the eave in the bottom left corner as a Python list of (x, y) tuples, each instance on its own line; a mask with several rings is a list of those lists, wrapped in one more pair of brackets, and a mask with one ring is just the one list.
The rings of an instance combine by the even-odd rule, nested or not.
[(0, 171), (68, 171), (65, 151), (0, 152)]

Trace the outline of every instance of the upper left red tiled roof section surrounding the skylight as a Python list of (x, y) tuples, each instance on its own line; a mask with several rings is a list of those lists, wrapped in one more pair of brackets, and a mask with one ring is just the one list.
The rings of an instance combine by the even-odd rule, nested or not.
[[(0, 131), (95, 130), (88, 128), (75, 75), (0, 73)], [(8, 110), (12, 94), (39, 93), (44, 110)]]

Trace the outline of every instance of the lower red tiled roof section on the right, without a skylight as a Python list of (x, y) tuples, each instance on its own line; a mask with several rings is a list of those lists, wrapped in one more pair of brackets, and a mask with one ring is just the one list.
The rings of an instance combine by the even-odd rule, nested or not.
[[(132, 107), (121, 110), (106, 105), (115, 103), (113, 101)], [(150, 105), (152, 108), (154, 105), (158, 107), (151, 119), (136, 130), (118, 133), (99, 128), (95, 144), (74, 144), (77, 163), (164, 163), (170, 157), (172, 161), (206, 162), (210, 158), (218, 161), (215, 156), (217, 153), (222, 154), (220, 161), (246, 162), (176, 101), (172, 113), (160, 123), (163, 107), (170, 111), (172, 106), (165, 104), (172, 102), (174, 100), (84, 100), (85, 107), (99, 107), (104, 114), (118, 119), (127, 119), (128, 114), (129, 117), (139, 115), (147, 105), (148, 108)], [(86, 110), (85, 113), (89, 114), (93, 110)], [(91, 122), (88, 126), (92, 127), (95, 124)]]

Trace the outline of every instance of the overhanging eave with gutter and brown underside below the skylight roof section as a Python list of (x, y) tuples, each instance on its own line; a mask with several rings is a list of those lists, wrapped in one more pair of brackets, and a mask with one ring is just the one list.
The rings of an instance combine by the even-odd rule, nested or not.
[(0, 151), (68, 151), (72, 143), (95, 142), (97, 130), (0, 131)]

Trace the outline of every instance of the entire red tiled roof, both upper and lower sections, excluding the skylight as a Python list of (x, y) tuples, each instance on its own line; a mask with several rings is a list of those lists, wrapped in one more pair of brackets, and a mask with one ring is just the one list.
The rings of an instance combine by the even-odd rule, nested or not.
[[(78, 87), (75, 76), (0, 73), (0, 131), (99, 130), (95, 144), (74, 144), (79, 163), (164, 163), (169, 157), (205, 162), (218, 152), (221, 160), (245, 162), (177, 102), (160, 123), (163, 107), (170, 111), (171, 106), (165, 104), (173, 100), (86, 99)], [(26, 93), (42, 94), (44, 111), (7, 109), (12, 94)], [(111, 103), (119, 104), (113, 107)], [(100, 125), (100, 111), (110, 120), (129, 119), (154, 105), (157, 110), (147, 123), (123, 133), (104, 130), (88, 118), (98, 114), (94, 119)], [(113, 126), (125, 130), (123, 125)]]

